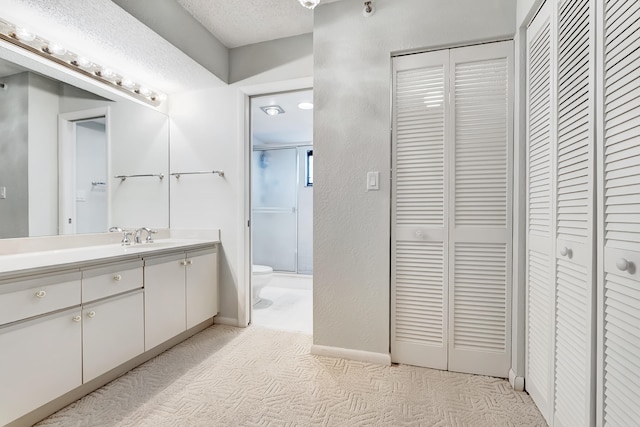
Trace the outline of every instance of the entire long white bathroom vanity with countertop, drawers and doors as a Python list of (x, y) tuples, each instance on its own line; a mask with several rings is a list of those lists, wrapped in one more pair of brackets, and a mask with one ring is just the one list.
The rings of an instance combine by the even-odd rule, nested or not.
[(0, 425), (31, 425), (213, 324), (218, 242), (0, 255)]

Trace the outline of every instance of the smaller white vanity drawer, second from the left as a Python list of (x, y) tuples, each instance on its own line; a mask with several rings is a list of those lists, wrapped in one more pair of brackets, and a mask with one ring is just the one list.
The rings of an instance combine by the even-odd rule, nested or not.
[(142, 261), (110, 264), (82, 272), (82, 302), (142, 288)]

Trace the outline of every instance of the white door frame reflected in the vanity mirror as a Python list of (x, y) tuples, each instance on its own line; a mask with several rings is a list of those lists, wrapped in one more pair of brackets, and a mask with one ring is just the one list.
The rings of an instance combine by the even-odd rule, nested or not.
[[(58, 114), (58, 233), (76, 232), (76, 123), (104, 117), (107, 144), (107, 224), (111, 224), (111, 121), (109, 107), (91, 108)], [(69, 224), (67, 218), (74, 218)]]

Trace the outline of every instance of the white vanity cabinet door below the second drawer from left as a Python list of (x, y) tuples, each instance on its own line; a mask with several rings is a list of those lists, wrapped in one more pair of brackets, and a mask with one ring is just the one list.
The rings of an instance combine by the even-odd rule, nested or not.
[(144, 351), (142, 291), (83, 308), (83, 380), (88, 382)]

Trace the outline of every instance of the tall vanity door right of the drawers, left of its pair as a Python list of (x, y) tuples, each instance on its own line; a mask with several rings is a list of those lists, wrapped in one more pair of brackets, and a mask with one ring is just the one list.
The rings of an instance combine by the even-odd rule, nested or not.
[(145, 260), (145, 350), (150, 350), (186, 330), (184, 282), (184, 254)]

